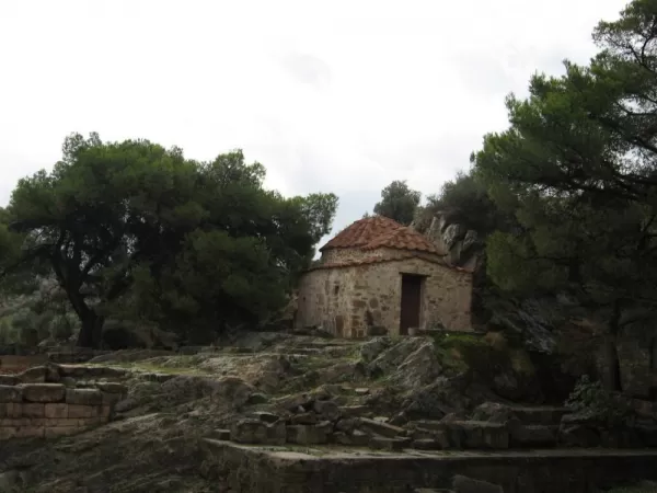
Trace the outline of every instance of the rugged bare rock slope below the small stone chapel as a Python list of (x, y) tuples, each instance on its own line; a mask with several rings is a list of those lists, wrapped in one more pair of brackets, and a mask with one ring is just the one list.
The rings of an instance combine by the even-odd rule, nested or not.
[[(544, 392), (525, 349), (499, 335), (353, 342), (250, 334), (221, 351), (124, 351), (74, 368), (78, 381), (67, 385), (110, 375), (127, 388), (113, 421), (74, 436), (3, 442), (0, 491), (228, 492), (228, 477), (201, 451), (205, 438), (267, 440), (273, 433), (279, 443), (283, 423), (284, 443), (507, 448), (538, 439), (556, 446), (564, 413), (522, 411), (544, 402)], [(550, 423), (522, 424), (534, 414)], [(512, 419), (520, 420), (515, 435), (506, 424)], [(457, 435), (438, 433), (440, 422), (453, 423)], [(558, 436), (580, 439), (585, 425), (572, 420), (568, 426)]]

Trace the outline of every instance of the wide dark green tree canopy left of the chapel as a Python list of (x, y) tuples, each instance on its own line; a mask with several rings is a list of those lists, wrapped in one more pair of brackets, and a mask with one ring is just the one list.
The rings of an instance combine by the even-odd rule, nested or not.
[(283, 197), (264, 177), (241, 151), (197, 162), (148, 140), (72, 135), (51, 172), (12, 193), (0, 223), (5, 277), (47, 266), (83, 346), (97, 346), (117, 313), (184, 337), (255, 323), (285, 302), (337, 207), (333, 194)]

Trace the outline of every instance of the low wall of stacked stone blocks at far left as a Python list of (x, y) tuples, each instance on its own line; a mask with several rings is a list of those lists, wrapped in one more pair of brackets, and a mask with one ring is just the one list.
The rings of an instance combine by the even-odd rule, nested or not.
[(0, 386), (0, 440), (71, 435), (110, 421), (123, 392), (118, 383), (67, 388), (64, 383)]

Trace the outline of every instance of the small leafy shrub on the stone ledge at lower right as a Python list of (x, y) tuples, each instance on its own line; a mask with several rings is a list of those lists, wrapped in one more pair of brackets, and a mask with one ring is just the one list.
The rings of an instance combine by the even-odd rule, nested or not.
[(600, 381), (585, 375), (575, 385), (566, 406), (607, 426), (622, 425), (631, 417), (629, 402), (619, 393), (604, 389)]

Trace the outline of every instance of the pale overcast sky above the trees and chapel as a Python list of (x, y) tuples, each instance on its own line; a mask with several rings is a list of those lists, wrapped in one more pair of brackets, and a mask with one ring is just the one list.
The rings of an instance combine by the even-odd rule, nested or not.
[(534, 71), (585, 62), (625, 0), (0, 0), (0, 205), (64, 137), (235, 148), (335, 228), (392, 180), (435, 193)]

